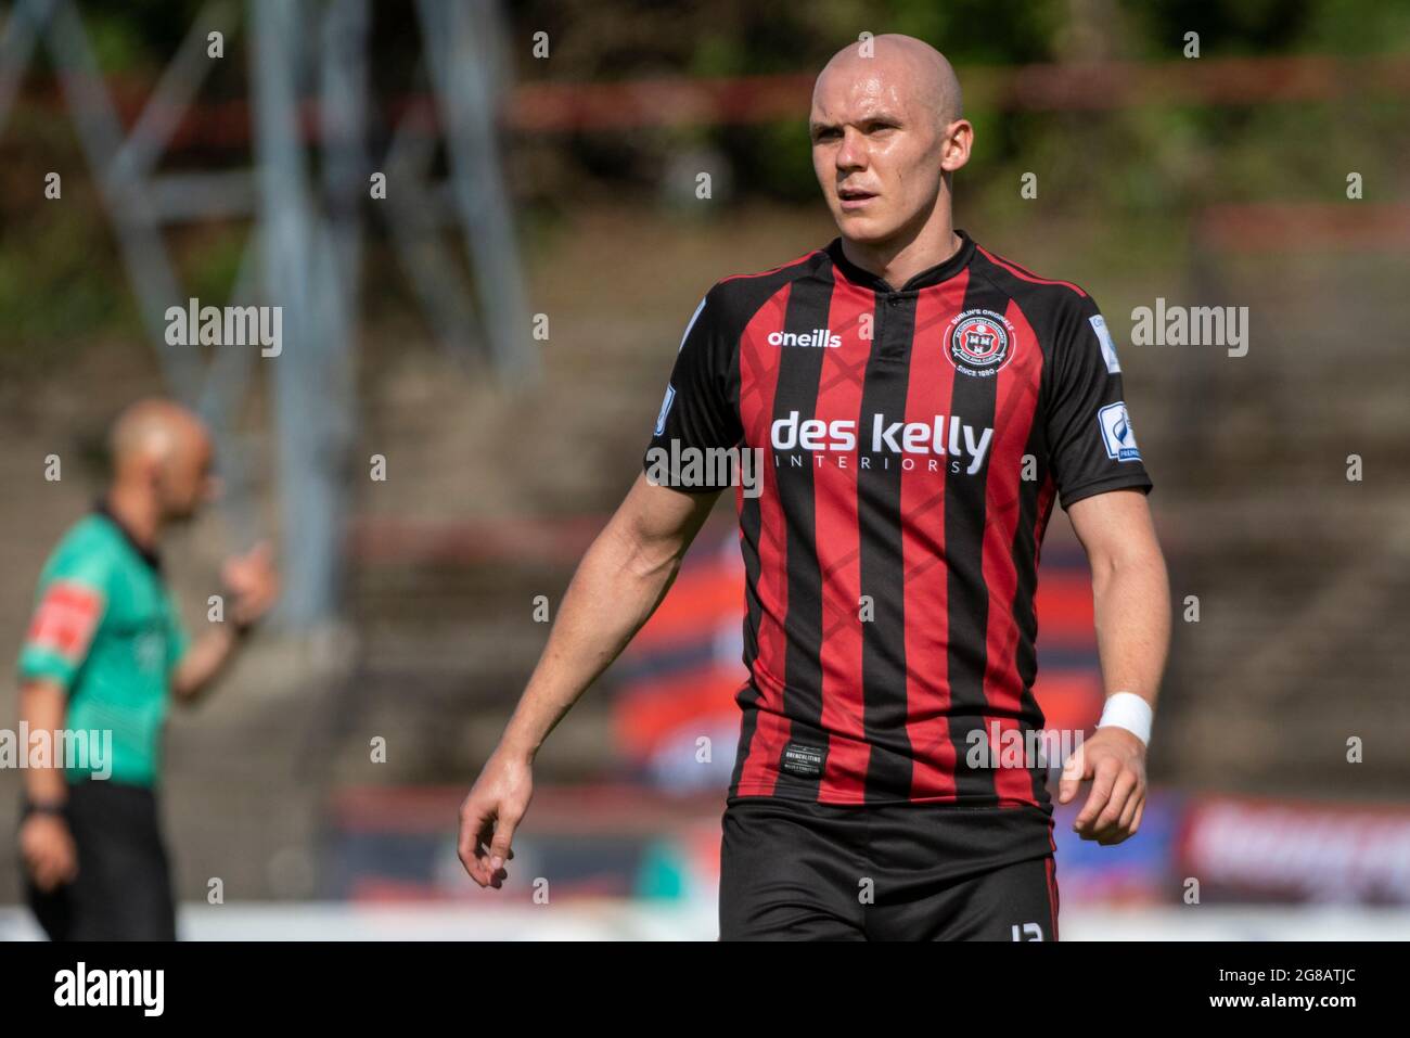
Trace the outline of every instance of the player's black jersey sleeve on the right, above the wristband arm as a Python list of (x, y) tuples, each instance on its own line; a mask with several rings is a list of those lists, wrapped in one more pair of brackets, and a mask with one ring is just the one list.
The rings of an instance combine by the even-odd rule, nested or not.
[(1065, 309), (1052, 357), (1048, 443), (1062, 506), (1115, 489), (1149, 492), (1117, 347), (1090, 298)]

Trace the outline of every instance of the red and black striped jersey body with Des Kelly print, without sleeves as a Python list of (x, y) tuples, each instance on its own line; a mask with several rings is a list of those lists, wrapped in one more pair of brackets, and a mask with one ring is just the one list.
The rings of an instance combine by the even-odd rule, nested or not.
[(967, 237), (900, 289), (835, 241), (715, 293), (742, 444), (764, 460), (761, 494), (736, 491), (732, 794), (1046, 812), (1042, 770), (1003, 766), (998, 743), (1043, 723), (1049, 340), (1080, 327), (1058, 295), (1086, 296)]

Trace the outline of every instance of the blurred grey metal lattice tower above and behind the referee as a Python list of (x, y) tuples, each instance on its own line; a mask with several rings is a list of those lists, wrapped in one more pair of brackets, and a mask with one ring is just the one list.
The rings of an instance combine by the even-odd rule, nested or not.
[[(166, 343), (165, 313), (185, 306), (162, 228), (248, 217), (251, 234), (230, 305), (281, 306), (285, 348), (274, 365), (285, 597), (282, 619), (312, 629), (333, 619), (355, 436), (354, 392), (362, 233), (381, 210), (389, 240), (431, 330), (450, 350), (478, 351), (506, 385), (537, 377), (529, 307), (498, 151), (503, 86), (502, 21), (492, 0), (419, 0), (436, 120), (407, 111), (391, 133), (369, 133), (369, 0), (212, 0), (171, 58), (141, 116), (125, 130), (103, 80), (76, 0), (16, 0), (0, 34), (0, 131), (41, 44), (49, 54), (103, 209), (118, 241), (147, 336), (169, 392), (217, 433), (231, 484), (228, 518), (250, 539), (254, 516), (244, 451), (231, 432), (257, 350)], [(243, 17), (241, 17), (243, 16)], [(162, 173), (159, 162), (213, 68), (207, 37), (248, 34), (251, 168)], [(305, 86), (309, 85), (309, 86)], [(317, 111), (317, 145), (300, 113)], [(446, 179), (430, 181), (436, 126)], [(368, 141), (388, 140), (382, 155)], [(316, 159), (316, 161), (314, 161)], [(316, 168), (316, 172), (314, 172)], [(372, 200), (369, 178), (386, 176)], [(465, 250), (482, 319), (453, 274)], [(478, 334), (477, 334), (478, 327)], [(360, 467), (358, 467), (360, 468)], [(357, 471), (357, 468), (351, 470)]]

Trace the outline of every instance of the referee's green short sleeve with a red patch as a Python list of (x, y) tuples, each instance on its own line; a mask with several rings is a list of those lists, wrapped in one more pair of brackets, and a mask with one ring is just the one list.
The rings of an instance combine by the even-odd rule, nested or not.
[(103, 556), (61, 557), (48, 567), (20, 650), (20, 681), (55, 681), (69, 690), (103, 622), (107, 590)]

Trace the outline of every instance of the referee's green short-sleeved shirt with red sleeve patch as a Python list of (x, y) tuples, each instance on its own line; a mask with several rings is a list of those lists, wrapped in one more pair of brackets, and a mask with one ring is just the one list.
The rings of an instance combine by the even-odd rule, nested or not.
[[(75, 523), (39, 574), (20, 680), (69, 697), (65, 728), (111, 732), (110, 778), (155, 786), (171, 674), (188, 637), (161, 563), (99, 505)], [(69, 783), (103, 770), (68, 762)]]

